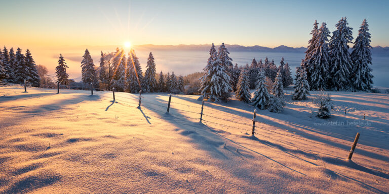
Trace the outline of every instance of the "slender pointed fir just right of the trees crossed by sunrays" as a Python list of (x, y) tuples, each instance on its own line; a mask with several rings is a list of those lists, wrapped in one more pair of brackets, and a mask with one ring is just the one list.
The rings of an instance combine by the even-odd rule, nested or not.
[(157, 79), (155, 79), (155, 63), (152, 53), (148, 55), (146, 71), (144, 73), (144, 92), (155, 92), (158, 90)]

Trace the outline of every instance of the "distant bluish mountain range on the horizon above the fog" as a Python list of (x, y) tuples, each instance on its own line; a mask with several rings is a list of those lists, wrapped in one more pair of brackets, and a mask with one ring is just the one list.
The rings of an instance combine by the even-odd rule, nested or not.
[[(238, 44), (225, 44), (230, 52), (273, 52), (273, 53), (304, 53), (306, 47), (289, 47), (285, 45), (270, 48), (266, 46), (242, 46)], [(211, 44), (179, 44), (179, 45), (153, 45), (144, 44), (142, 47), (148, 50), (180, 50), (180, 51), (209, 51)], [(373, 55), (389, 55), (389, 47), (376, 46), (372, 49)]]

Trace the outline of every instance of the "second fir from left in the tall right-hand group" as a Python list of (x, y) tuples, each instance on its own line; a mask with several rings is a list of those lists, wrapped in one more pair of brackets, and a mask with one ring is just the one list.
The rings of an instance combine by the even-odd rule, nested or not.
[(310, 67), (309, 70), (310, 78), (308, 83), (310, 90), (321, 90), (326, 89), (328, 82), (329, 73), (329, 47), (328, 37), (330, 37), (330, 31), (328, 30), (326, 23), (323, 22), (320, 26), (319, 32), (316, 37), (316, 44), (311, 52)]

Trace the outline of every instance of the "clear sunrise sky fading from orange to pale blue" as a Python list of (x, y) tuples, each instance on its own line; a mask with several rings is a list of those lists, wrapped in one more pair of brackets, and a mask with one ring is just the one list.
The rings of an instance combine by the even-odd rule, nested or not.
[(95, 48), (91, 53), (98, 59), (99, 50), (114, 51), (127, 41), (306, 46), (315, 20), (327, 22), (333, 31), (344, 16), (354, 37), (366, 18), (372, 45), (389, 46), (389, 1), (0, 0), (0, 4), (0, 45), (28, 48), (38, 64), (46, 65), (55, 65), (59, 53), (81, 57), (88, 47)]

